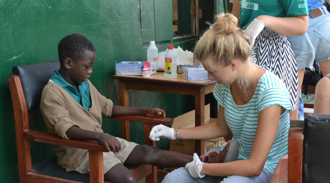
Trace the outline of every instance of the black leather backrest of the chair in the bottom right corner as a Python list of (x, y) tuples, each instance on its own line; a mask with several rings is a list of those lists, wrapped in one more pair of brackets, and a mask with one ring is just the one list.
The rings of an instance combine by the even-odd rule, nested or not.
[(330, 115), (305, 115), (304, 182), (330, 181)]

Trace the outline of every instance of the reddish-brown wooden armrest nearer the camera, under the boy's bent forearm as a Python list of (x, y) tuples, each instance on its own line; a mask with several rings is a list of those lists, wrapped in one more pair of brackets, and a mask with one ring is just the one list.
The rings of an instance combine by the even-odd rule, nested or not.
[(96, 141), (86, 141), (86, 140), (75, 140), (75, 139), (64, 139), (59, 137), (57, 134), (52, 134), (48, 132), (40, 132), (34, 130), (24, 131), (24, 137), (37, 142), (44, 142), (55, 145), (63, 145), (68, 147), (75, 147), (80, 149), (87, 149), (93, 151), (107, 152), (105, 148), (97, 143)]

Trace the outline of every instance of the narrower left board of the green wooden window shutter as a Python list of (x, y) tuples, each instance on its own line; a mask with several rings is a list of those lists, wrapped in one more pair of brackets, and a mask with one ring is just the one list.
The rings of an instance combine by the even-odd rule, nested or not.
[(153, 3), (154, 0), (140, 0), (141, 44), (155, 41), (155, 13)]

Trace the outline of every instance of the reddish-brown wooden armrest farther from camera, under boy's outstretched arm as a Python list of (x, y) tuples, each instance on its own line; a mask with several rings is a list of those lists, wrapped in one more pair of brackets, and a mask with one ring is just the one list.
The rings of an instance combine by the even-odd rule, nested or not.
[(111, 116), (112, 119), (120, 119), (125, 121), (135, 121), (140, 123), (146, 123), (150, 125), (165, 125), (169, 126), (173, 124), (172, 118), (156, 117), (156, 116), (137, 116), (137, 115), (128, 115), (128, 116)]

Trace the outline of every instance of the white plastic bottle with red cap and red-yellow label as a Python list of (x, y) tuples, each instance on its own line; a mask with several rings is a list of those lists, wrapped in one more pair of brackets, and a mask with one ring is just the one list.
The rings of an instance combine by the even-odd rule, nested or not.
[(169, 45), (165, 56), (164, 77), (177, 78), (177, 55), (174, 53), (174, 46)]

